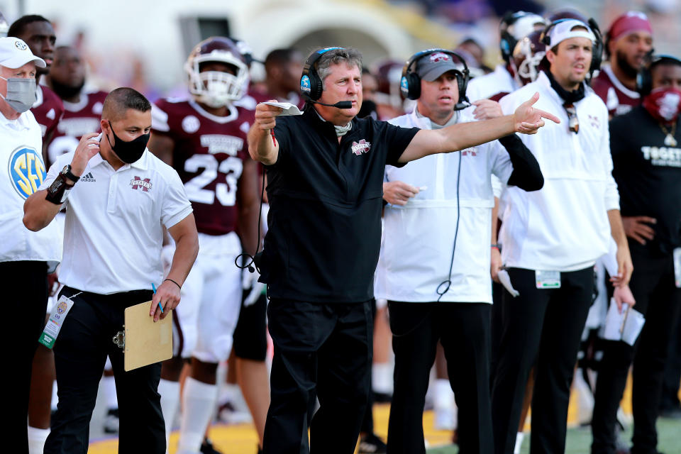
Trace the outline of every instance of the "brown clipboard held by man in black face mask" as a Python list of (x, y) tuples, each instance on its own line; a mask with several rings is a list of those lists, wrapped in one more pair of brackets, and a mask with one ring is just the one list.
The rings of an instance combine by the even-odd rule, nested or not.
[(126, 372), (172, 358), (172, 310), (165, 319), (154, 323), (153, 317), (149, 316), (150, 309), (151, 301), (126, 308), (123, 326), (123, 369)]

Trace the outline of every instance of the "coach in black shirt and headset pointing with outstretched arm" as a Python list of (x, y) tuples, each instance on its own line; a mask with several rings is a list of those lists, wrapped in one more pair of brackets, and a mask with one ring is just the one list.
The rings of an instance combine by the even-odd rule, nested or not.
[(355, 449), (370, 385), (385, 165), (536, 133), (542, 118), (560, 121), (533, 109), (537, 94), (514, 115), (433, 131), (358, 119), (361, 73), (358, 50), (316, 50), (301, 77), (304, 114), (275, 121), (282, 109), (258, 104), (248, 133), (250, 155), (267, 170), (270, 199), (258, 263), (275, 345), (265, 454), (308, 452), (315, 394), (321, 406), (311, 421), (313, 452)]

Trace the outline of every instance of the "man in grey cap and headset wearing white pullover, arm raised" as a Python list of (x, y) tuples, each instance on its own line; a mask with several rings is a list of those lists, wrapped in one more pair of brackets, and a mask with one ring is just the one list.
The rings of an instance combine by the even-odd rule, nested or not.
[[(413, 82), (418, 86), (410, 84), (406, 97), (417, 99), (416, 109), (390, 123), (438, 130), (474, 121), (473, 109), (454, 110), (465, 96), (468, 78), (467, 67), (461, 72), (454, 57), (463, 62), (445, 50), (426, 50), (409, 59), (404, 72), (408, 77), (416, 75)], [(502, 116), (494, 101), (476, 104), (496, 107), (497, 116)], [(494, 194), (490, 176), (524, 190), (541, 189), (543, 184), (539, 165), (521, 140), (509, 135), (501, 142), (507, 151), (494, 141), (461, 153), (423, 157), (406, 167), (386, 166), (384, 187), (397, 183), (406, 189), (426, 187), (416, 189), (406, 204), (399, 200), (384, 211), (376, 297), (388, 300), (395, 353), (389, 453), (426, 453), (423, 404), (438, 340), (459, 409), (459, 448), (464, 453), (493, 452), (489, 231)], [(453, 257), (444, 252), (453, 247)]]

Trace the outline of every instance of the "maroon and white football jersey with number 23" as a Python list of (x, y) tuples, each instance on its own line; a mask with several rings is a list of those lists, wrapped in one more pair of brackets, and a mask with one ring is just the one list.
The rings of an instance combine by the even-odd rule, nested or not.
[(215, 116), (196, 101), (160, 99), (152, 109), (153, 133), (175, 141), (172, 164), (192, 201), (196, 228), (208, 235), (236, 230), (236, 187), (250, 159), (246, 133), (255, 112), (228, 106)]

